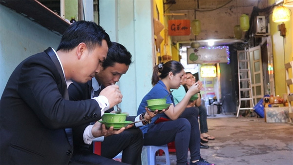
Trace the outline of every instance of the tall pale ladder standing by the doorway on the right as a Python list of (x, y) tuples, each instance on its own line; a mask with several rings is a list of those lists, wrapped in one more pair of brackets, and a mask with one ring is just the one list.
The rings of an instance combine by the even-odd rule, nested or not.
[[(239, 106), (237, 110), (237, 116), (239, 116), (239, 111), (250, 110), (249, 112), (254, 112), (254, 103), (252, 96), (252, 87), (251, 87), (251, 70), (250, 70), (250, 57), (249, 51), (242, 50), (237, 51), (238, 56), (238, 85), (239, 85)], [(250, 107), (240, 107), (241, 102), (247, 103), (250, 101)], [(251, 106), (252, 105), (252, 106)]]

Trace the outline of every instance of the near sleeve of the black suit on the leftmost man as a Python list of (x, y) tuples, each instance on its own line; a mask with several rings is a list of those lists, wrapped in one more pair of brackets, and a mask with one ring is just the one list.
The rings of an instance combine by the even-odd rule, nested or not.
[(99, 104), (94, 100), (72, 102), (63, 99), (63, 75), (47, 58), (45, 61), (43, 56), (37, 56), (23, 62), (18, 79), (19, 96), (42, 123), (51, 129), (59, 129), (95, 121), (101, 116)]

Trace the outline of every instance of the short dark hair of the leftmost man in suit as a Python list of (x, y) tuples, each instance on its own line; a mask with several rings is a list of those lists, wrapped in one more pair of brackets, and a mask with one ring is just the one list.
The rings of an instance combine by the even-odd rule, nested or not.
[(97, 45), (101, 46), (103, 40), (107, 42), (108, 47), (111, 46), (110, 37), (103, 27), (92, 21), (76, 21), (64, 32), (57, 51), (70, 51), (81, 42), (84, 42), (91, 51)]

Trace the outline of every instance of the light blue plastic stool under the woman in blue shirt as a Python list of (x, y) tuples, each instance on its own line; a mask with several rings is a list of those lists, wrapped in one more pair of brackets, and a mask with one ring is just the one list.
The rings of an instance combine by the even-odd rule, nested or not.
[(168, 151), (168, 145), (161, 145), (161, 146), (155, 146), (155, 145), (145, 145), (147, 149), (147, 163), (148, 165), (156, 165), (156, 152), (159, 149), (162, 149), (165, 152), (166, 156), (166, 165), (170, 165), (170, 157), (169, 157), (169, 151)]

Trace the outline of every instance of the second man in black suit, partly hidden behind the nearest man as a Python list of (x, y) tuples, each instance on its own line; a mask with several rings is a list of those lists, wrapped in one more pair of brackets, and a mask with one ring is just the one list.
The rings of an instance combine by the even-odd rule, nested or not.
[[(101, 88), (105, 88), (105, 86), (111, 86), (118, 82), (121, 76), (126, 74), (130, 63), (131, 54), (127, 49), (117, 42), (112, 42), (112, 46), (109, 47), (108, 50), (107, 58), (102, 64), (101, 71), (95, 75), (95, 78), (85, 84), (77, 82), (70, 84), (68, 88), (70, 100), (78, 101), (94, 97), (95, 94), (98, 94), (94, 91), (98, 91)], [(113, 108), (109, 109), (106, 113), (113, 110)], [(115, 113), (115, 111), (113, 112)], [(150, 117), (153, 117), (152, 114), (150, 115)], [(145, 116), (148, 118), (148, 114)], [(137, 120), (139, 120), (139, 118), (137, 118)], [(137, 125), (139, 126), (139, 123)], [(90, 125), (85, 124), (73, 128), (74, 147), (78, 148), (78, 151), (74, 152), (72, 159), (75, 162), (83, 164), (99, 164), (100, 157), (93, 153), (92, 145), (89, 145), (92, 139), (84, 138), (86, 132), (84, 130), (88, 126)], [(127, 129), (120, 134), (105, 137), (104, 141), (101, 143), (101, 156), (112, 159), (123, 150), (122, 162), (131, 165), (140, 165), (142, 147), (142, 131), (137, 128)]]

